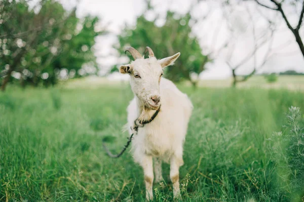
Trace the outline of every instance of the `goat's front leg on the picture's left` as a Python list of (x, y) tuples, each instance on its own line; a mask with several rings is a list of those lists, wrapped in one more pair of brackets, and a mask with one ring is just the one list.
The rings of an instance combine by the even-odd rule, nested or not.
[(144, 182), (146, 188), (146, 199), (153, 200), (153, 158), (152, 156), (145, 155), (142, 161), (142, 168), (144, 173)]

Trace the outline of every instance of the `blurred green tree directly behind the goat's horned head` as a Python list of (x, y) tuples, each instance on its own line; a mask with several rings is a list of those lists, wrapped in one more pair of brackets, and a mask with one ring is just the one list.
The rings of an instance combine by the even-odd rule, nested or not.
[[(173, 82), (189, 80), (194, 87), (198, 79), (193, 77), (201, 73), (205, 64), (210, 61), (209, 57), (202, 54), (202, 49), (196, 36), (192, 34), (189, 25), (191, 15), (176, 17), (177, 14), (167, 12), (166, 22), (163, 26), (157, 26), (156, 20), (149, 21), (143, 15), (137, 18), (136, 28), (126, 26), (122, 34), (118, 36), (120, 54), (124, 55), (124, 47), (132, 46), (139, 52), (149, 46), (156, 57), (161, 59), (180, 52), (174, 66), (166, 67), (166, 77)], [(131, 59), (131, 58), (130, 58)]]

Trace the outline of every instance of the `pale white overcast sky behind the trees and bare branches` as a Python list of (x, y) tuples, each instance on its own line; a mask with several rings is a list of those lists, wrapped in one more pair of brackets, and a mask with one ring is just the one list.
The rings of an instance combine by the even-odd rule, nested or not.
[[(65, 8), (69, 9), (75, 4), (73, 0), (61, 1)], [(167, 10), (175, 11), (180, 14), (186, 13), (195, 0), (153, 0), (151, 4), (155, 7), (156, 13), (164, 16)], [(254, 40), (252, 35), (252, 27), (247, 27), (249, 24), (250, 13), (256, 29), (256, 35), (266, 33), (265, 30), (267, 23), (265, 18), (259, 14), (262, 13), (265, 17), (270, 19), (276, 19), (277, 29), (275, 32), (272, 53), (276, 55), (270, 57), (267, 63), (262, 66), (258, 72), (279, 72), (287, 69), (294, 69), (304, 72), (304, 59), (301, 55), (298, 46), (295, 42), (294, 36), (287, 28), (286, 24), (278, 19), (281, 16), (275, 11), (256, 7), (253, 2), (248, 2), (244, 6), (234, 6), (233, 11), (227, 11), (227, 17), (231, 22), (231, 26), (234, 27), (236, 33), (232, 37), (229, 35), (231, 32), (227, 29), (225, 23), (223, 23), (222, 7), (218, 4), (219, 1), (202, 1), (199, 5), (193, 9), (193, 16), (196, 19), (202, 19), (208, 12), (208, 19), (201, 21), (193, 26), (194, 34), (200, 38), (200, 44), (204, 50), (204, 53), (214, 53), (216, 58), (213, 63), (207, 65), (200, 77), (203, 79), (225, 78), (231, 76), (231, 70), (227, 66), (226, 61), (229, 61), (232, 65), (237, 65), (246, 55), (253, 51)], [(264, 1), (268, 3), (268, 0)], [(271, 6), (271, 4), (268, 4)], [(259, 9), (259, 11), (256, 10)], [(102, 57), (107, 55), (115, 55), (116, 50), (111, 47), (116, 42), (115, 34), (121, 32), (125, 24), (135, 25), (136, 17), (141, 15), (145, 9), (145, 3), (143, 0), (80, 0), (78, 4), (77, 15), (83, 17), (85, 15), (98, 16), (101, 19), (101, 25), (106, 26), (113, 34), (100, 36), (96, 38), (96, 56), (97, 62), (100, 65), (101, 73), (103, 73), (111, 65), (121, 64), (125, 61), (118, 59), (115, 56)], [(292, 23), (298, 20), (297, 12), (293, 8), (285, 6), (288, 17)], [(297, 8), (296, 8), (297, 9)], [(147, 13), (146, 18), (153, 19), (154, 13)], [(164, 23), (164, 19), (157, 21), (157, 24), (161, 26)], [(303, 33), (301, 29), (301, 33)], [(234, 48), (227, 48), (217, 53), (217, 50), (226, 41), (227, 37), (232, 37), (236, 42)], [(262, 58), (268, 50), (268, 45), (265, 44), (257, 52), (256, 63), (257, 66), (262, 62)], [(142, 46), (149, 46), (143, 44)], [(178, 50), (182, 54), (182, 50)], [(233, 53), (233, 54), (231, 54)], [(229, 55), (231, 54), (231, 58)], [(157, 55), (157, 53), (156, 53)], [(214, 56), (214, 57), (215, 57)], [(253, 59), (242, 65), (237, 73), (244, 74), (250, 72), (253, 66)]]

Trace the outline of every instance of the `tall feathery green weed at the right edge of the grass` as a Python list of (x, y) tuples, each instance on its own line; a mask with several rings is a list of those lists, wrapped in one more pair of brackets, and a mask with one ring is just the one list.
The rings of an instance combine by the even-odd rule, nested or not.
[(279, 183), (293, 201), (304, 199), (304, 128), (299, 123), (299, 107), (291, 106), (286, 115), (289, 129), (272, 136), (273, 160), (278, 167)]

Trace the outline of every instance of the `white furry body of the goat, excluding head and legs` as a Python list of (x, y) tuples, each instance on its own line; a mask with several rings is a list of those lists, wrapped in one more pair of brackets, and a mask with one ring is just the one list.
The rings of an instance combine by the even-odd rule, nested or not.
[[(172, 153), (182, 154), (187, 125), (192, 112), (192, 103), (168, 79), (160, 83), (161, 110), (153, 122), (138, 129), (132, 141), (133, 156), (137, 163), (142, 163), (145, 154), (160, 156), (168, 162)], [(140, 101), (135, 96), (127, 109), (129, 128), (140, 115)], [(150, 110), (150, 116), (155, 110)], [(133, 133), (131, 129), (130, 134)], [(177, 151), (175, 151), (177, 149)], [(181, 156), (180, 156), (181, 157)]]

